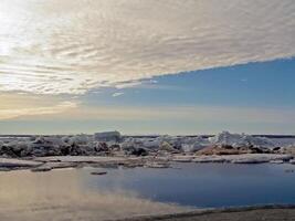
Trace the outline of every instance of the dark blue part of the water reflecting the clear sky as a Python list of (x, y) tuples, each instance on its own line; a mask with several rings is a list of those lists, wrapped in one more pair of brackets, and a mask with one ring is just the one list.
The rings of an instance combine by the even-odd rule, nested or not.
[(181, 169), (113, 170), (92, 189), (131, 190), (154, 201), (197, 208), (295, 203), (293, 165), (181, 164)]

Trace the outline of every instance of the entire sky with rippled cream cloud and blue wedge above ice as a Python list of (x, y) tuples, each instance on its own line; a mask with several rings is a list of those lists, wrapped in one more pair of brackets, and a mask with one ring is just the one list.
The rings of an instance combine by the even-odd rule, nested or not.
[(2, 0), (0, 134), (295, 134), (293, 0)]

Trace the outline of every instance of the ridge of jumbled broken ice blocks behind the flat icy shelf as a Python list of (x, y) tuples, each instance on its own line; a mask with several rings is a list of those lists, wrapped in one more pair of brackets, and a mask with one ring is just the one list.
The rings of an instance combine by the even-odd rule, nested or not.
[[(281, 148), (278, 148), (281, 147)], [(223, 148), (223, 149), (222, 149)], [(29, 138), (0, 138), (0, 156), (96, 156), (148, 155), (149, 152), (197, 152), (241, 154), (241, 152), (295, 152), (295, 139), (280, 143), (278, 139), (255, 137), (245, 134), (222, 131), (213, 137), (206, 136), (122, 136), (118, 131), (95, 135), (40, 136)], [(271, 150), (271, 151), (270, 151)], [(201, 152), (199, 152), (201, 154)]]

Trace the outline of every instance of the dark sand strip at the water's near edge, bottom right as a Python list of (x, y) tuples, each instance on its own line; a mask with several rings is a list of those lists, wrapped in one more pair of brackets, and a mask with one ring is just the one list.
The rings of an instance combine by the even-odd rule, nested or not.
[(295, 206), (266, 206), (143, 217), (122, 221), (295, 221)]

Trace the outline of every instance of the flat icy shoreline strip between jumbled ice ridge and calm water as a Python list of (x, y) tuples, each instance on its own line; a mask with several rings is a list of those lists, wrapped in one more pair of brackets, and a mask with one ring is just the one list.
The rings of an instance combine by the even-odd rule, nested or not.
[[(31, 170), (46, 172), (64, 168), (173, 168), (172, 164), (288, 164), (294, 165), (292, 155), (282, 154), (243, 154), (243, 155), (170, 155), (166, 157), (127, 157), (127, 156), (54, 156), (34, 158), (1, 158), (0, 171)], [(293, 172), (294, 170), (289, 171)]]

